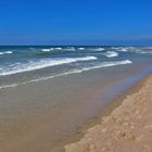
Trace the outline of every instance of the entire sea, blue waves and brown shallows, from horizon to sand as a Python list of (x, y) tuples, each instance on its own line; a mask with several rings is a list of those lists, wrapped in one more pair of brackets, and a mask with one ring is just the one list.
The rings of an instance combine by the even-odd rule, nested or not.
[(150, 73), (152, 47), (1, 46), (0, 151), (64, 151)]

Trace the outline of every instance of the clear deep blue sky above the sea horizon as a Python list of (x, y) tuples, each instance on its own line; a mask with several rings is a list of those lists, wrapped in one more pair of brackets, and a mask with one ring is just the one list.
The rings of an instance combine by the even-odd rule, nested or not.
[(0, 45), (152, 46), (152, 0), (0, 0)]

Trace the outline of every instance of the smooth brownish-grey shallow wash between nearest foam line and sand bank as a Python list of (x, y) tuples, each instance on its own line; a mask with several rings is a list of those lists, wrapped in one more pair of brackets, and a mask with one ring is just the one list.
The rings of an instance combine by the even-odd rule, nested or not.
[(130, 94), (127, 90), (151, 72), (151, 66), (139, 67), (101, 68), (1, 89), (0, 152), (63, 152), (65, 145), (83, 138), (84, 130), (121, 105), (119, 96)]

